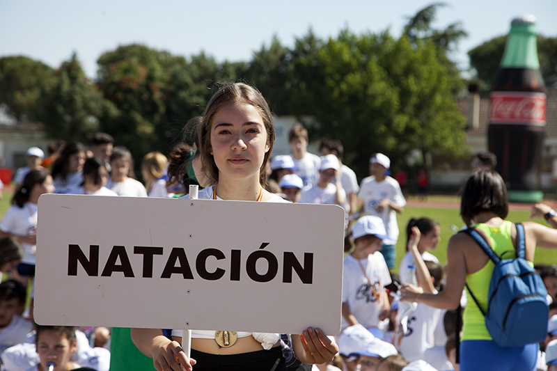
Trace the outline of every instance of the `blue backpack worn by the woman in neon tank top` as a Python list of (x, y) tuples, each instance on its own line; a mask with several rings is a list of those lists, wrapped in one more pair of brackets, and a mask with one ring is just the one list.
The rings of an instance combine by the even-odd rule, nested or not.
[(542, 278), (524, 258), (524, 226), (517, 226), (517, 258), (501, 259), (473, 228), (465, 230), (495, 263), (487, 294), (487, 310), (472, 299), (485, 317), (485, 326), (499, 347), (521, 347), (547, 336), (547, 291)]

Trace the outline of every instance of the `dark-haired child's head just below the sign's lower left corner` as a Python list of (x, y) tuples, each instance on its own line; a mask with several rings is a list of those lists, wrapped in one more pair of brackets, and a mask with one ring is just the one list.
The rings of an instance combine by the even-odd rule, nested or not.
[(41, 331), (37, 340), (37, 352), (43, 370), (48, 370), (49, 362), (56, 364), (54, 371), (66, 370), (66, 365), (76, 349), (76, 345), (70, 344), (65, 334), (54, 330)]

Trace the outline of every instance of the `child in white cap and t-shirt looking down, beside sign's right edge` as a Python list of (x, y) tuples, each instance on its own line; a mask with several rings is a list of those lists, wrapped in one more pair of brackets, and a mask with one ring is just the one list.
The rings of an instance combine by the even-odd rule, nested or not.
[(389, 315), (389, 298), (385, 285), (391, 276), (383, 255), (379, 253), (387, 237), (379, 216), (363, 216), (352, 226), (354, 251), (346, 255), (343, 271), (343, 329), (362, 324), (377, 338), (382, 331), (379, 321)]

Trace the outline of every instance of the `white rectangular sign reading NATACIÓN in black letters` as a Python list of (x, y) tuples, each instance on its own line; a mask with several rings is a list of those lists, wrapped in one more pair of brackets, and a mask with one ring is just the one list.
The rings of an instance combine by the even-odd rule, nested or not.
[(38, 324), (340, 331), (335, 205), (40, 196)]

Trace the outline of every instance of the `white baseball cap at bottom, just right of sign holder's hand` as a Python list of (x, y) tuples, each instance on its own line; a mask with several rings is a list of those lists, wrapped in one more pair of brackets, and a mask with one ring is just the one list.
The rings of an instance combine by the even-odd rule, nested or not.
[(360, 354), (361, 356), (386, 358), (397, 354), (397, 351), (389, 342), (375, 338), (361, 324), (347, 327), (338, 338), (338, 352), (345, 356)]

